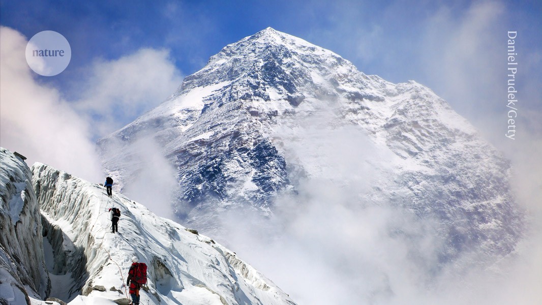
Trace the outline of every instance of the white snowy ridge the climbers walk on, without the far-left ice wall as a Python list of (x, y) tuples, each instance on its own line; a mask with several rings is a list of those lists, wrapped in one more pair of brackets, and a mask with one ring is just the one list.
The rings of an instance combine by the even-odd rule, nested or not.
[[(53, 291), (70, 304), (129, 298), (131, 258), (148, 266), (142, 304), (295, 304), (234, 252), (143, 205), (56, 168), (36, 163), (33, 185), (53, 248)], [(111, 232), (108, 209), (121, 211)], [(105, 288), (105, 289), (104, 289)], [(104, 291), (105, 290), (105, 291)], [(51, 291), (51, 294), (53, 294)]]

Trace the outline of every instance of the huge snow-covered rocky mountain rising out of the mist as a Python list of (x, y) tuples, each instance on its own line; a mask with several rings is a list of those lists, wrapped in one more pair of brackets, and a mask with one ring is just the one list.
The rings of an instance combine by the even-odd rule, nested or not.
[(378, 157), (360, 155), (375, 170), (360, 204), (440, 219), (438, 233), (449, 241), (442, 261), (463, 250), (514, 249), (522, 220), (510, 166), (468, 121), (419, 83), (365, 75), (332, 51), (272, 28), (224, 47), (170, 99), (99, 145), (106, 170), (129, 185), (145, 158), (134, 142), (157, 141), (177, 168), (178, 216), (218, 234), (224, 211), (272, 215), (276, 197), (295, 194), (300, 179), (349, 178), (322, 161), (325, 143), (305, 153), (292, 148), (318, 125), (370, 139)]

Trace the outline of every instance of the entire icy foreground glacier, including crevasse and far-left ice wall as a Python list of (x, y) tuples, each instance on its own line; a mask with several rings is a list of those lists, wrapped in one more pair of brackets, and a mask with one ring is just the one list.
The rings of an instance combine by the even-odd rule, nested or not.
[[(149, 267), (143, 304), (295, 304), (235, 252), (196, 230), (120, 193), (109, 198), (102, 186), (56, 168), (36, 163), (30, 170), (4, 148), (0, 158), (2, 304), (37, 305), (46, 296), (70, 305), (127, 304), (133, 255)], [(12, 204), (18, 198), (22, 210)], [(118, 234), (111, 233), (109, 207), (121, 210)]]

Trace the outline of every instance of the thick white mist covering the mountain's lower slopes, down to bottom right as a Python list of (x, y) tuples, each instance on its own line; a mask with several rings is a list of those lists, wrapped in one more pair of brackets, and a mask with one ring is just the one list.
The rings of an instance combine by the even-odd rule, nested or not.
[(229, 213), (223, 223), (231, 249), (300, 305), (542, 301), (539, 203), (531, 202), (530, 229), (512, 254), (494, 262), (466, 251), (443, 263), (448, 241), (438, 219), (375, 198), (382, 192), (372, 187), (386, 190), (393, 180), (396, 156), (377, 151), (362, 130), (335, 124), (333, 115), (324, 111), (301, 121), (303, 128), (278, 132), (287, 162), (304, 166), (305, 178), (296, 194), (276, 200), (270, 219)]

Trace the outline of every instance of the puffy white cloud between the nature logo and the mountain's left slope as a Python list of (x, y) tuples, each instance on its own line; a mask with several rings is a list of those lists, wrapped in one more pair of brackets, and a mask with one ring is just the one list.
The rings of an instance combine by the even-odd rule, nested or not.
[(140, 49), (117, 60), (98, 60), (89, 70), (88, 79), (78, 83), (84, 89), (75, 107), (93, 121), (99, 136), (157, 106), (182, 81), (167, 50)]

